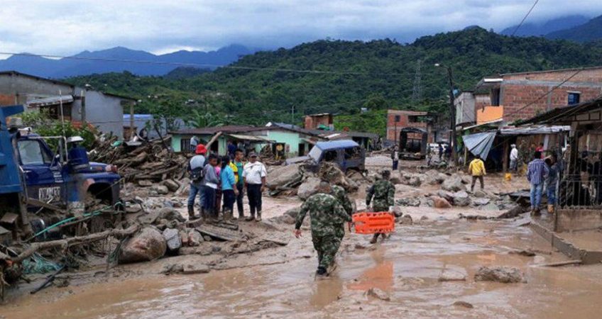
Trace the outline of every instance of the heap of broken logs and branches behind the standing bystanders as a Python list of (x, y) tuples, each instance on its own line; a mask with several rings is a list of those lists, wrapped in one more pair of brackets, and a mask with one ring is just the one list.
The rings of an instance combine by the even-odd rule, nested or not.
[(151, 142), (99, 142), (90, 160), (114, 164), (126, 181), (165, 181), (184, 177), (187, 158), (169, 150), (170, 138)]

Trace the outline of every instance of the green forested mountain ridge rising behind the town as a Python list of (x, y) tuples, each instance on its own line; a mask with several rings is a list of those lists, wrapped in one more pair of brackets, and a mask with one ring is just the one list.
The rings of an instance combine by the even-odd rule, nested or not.
[[(307, 113), (350, 115), (359, 113), (361, 107), (441, 113), (447, 109), (449, 85), (447, 72), (434, 67), (435, 63), (451, 67), (456, 89), (472, 89), (479, 79), (491, 74), (592, 66), (601, 61), (599, 45), (511, 38), (469, 28), (419, 38), (408, 45), (388, 39), (319, 40), (288, 50), (256, 52), (230, 67), (187, 78), (122, 73), (68, 81), (139, 97), (143, 99), (140, 112), (185, 117), (211, 113), (224, 123), (263, 124), (290, 122), (293, 108), (295, 122)], [(418, 63), (422, 96), (412, 99)], [(378, 130), (384, 133), (384, 128)]]

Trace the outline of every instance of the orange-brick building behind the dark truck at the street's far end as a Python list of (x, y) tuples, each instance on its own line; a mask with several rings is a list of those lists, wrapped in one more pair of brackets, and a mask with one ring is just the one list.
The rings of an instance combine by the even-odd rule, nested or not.
[(429, 113), (421, 111), (387, 111), (387, 140), (399, 140), (402, 128), (422, 128), (429, 133), (429, 142), (434, 140), (432, 127), (429, 125)]

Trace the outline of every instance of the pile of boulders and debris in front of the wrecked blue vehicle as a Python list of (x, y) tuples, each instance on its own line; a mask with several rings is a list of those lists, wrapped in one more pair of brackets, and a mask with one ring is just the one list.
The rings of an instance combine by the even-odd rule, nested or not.
[(359, 189), (360, 179), (365, 179), (361, 173), (350, 170), (345, 174), (336, 164), (330, 162), (320, 164), (318, 172), (307, 171), (302, 164), (291, 164), (270, 170), (267, 186), (271, 196), (297, 195), (305, 200), (317, 193), (322, 180), (342, 186), (352, 193)]

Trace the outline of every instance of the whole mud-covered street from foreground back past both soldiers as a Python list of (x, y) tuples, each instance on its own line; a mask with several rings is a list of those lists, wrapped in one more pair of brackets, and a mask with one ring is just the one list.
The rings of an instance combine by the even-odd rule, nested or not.
[[(388, 161), (368, 157), (366, 164), (376, 171)], [(417, 164), (403, 162), (402, 172), (417, 172)], [(288, 214), (302, 201), (266, 196), (261, 223), (238, 223), (248, 242), (207, 238), (187, 253), (114, 267), (98, 259), (31, 295), (44, 279), (38, 276), (10, 290), (0, 317), (597, 318), (602, 265), (549, 267), (569, 258), (529, 227), (528, 214), (497, 217), (503, 213), (497, 207), (509, 204), (493, 193), (522, 189), (523, 179), (486, 178), (486, 194), (497, 206), (436, 208), (424, 201), (441, 187), (397, 184), (395, 233), (371, 245), (371, 236), (347, 232), (327, 279), (314, 278), (309, 225), (300, 239), (292, 235)], [(365, 188), (351, 195), (359, 210)], [(153, 203), (184, 200), (159, 196)], [(187, 217), (184, 208), (176, 211)], [(496, 266), (515, 267), (520, 281), (476, 280), (481, 267)], [(182, 274), (187, 267), (193, 271)]]

